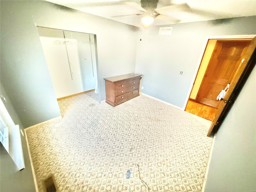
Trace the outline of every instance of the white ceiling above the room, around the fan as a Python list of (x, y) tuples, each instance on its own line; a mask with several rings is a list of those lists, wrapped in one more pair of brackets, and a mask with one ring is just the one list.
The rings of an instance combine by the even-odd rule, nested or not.
[[(143, 13), (140, 11), (143, 10), (140, 0), (47, 1), (133, 26), (141, 26), (142, 16), (136, 15)], [(188, 5), (185, 9), (179, 6), (184, 3)], [(256, 0), (159, 0), (156, 10), (161, 15), (155, 18), (152, 25), (166, 25), (177, 23), (175, 20), (185, 23), (253, 16), (256, 15)]]

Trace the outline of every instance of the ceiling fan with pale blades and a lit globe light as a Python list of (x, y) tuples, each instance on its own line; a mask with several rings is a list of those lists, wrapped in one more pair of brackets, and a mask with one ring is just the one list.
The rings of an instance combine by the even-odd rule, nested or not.
[(140, 0), (141, 6), (136, 6), (136, 8), (141, 12), (138, 14), (126, 14), (126, 15), (118, 15), (112, 17), (122, 17), (122, 16), (130, 16), (130, 15), (138, 15), (142, 16), (141, 21), (142, 24), (148, 26), (152, 24), (155, 18), (161, 20), (168, 20), (173, 23), (178, 23), (180, 20), (177, 18), (170, 17), (168, 15), (162, 14), (166, 10), (180, 10), (180, 11), (188, 11), (190, 7), (186, 3), (176, 4), (172, 1), (163, 1), (162, 6), (159, 5), (159, 0)]

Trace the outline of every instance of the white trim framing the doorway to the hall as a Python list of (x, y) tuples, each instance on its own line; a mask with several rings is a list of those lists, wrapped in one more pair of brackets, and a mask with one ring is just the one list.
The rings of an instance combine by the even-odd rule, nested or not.
[(183, 111), (185, 111), (186, 109), (186, 106), (188, 104), (188, 100), (189, 100), (189, 97), (190, 97), (190, 94), (192, 92), (192, 88), (194, 86), (194, 82), (196, 80), (196, 76), (198, 74), (198, 70), (200, 68), (200, 64), (202, 62), (202, 59), (204, 57), (204, 52), (206, 50), (206, 47), (207, 47), (207, 44), (208, 44), (208, 41), (210, 39), (252, 39), (256, 36), (256, 34), (250, 34), (250, 35), (221, 35), (221, 36), (206, 36), (205, 40), (204, 40), (204, 44), (203, 44), (203, 47), (202, 47), (202, 50), (201, 50), (201, 53), (200, 53), (200, 56), (199, 56), (199, 59), (198, 59), (198, 63), (197, 63), (197, 66), (196, 66), (196, 70), (194, 72), (194, 76), (192, 78), (192, 82), (190, 84), (190, 88), (188, 90), (188, 94), (187, 94), (187, 97), (186, 97), (186, 100), (184, 102), (184, 106), (182, 108)]

